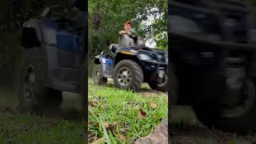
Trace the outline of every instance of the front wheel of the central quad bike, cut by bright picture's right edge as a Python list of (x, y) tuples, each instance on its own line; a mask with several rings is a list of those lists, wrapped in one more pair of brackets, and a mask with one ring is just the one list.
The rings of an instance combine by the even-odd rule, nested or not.
[(148, 83), (151, 89), (166, 92), (168, 90), (166, 87), (167, 82), (168, 82), (168, 76), (167, 74), (165, 74), (165, 76), (162, 78), (161, 83), (154, 82), (154, 81), (150, 81)]

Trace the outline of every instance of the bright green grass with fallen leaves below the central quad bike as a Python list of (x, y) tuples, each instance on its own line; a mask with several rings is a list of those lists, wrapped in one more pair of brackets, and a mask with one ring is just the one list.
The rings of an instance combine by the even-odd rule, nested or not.
[[(167, 118), (167, 94), (150, 90), (146, 85), (142, 86), (142, 92), (134, 93), (118, 90), (111, 83), (108, 86), (96, 86), (90, 79), (88, 94), (90, 142), (103, 136), (100, 119), (114, 138), (120, 140), (122, 136), (125, 137), (121, 137), (122, 140), (134, 142), (149, 134), (163, 118)], [(150, 106), (150, 103), (157, 107)], [(138, 110), (146, 112), (144, 118), (138, 116)]]

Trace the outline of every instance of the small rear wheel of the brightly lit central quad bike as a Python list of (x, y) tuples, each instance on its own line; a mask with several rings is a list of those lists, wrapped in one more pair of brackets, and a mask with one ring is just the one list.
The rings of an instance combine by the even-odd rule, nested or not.
[(97, 85), (106, 85), (107, 78), (103, 78), (103, 70), (102, 70), (102, 65), (96, 65), (94, 68), (94, 84)]

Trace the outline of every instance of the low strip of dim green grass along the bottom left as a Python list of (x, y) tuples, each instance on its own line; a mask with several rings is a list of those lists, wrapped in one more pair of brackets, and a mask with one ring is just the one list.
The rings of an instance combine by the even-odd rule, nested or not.
[(0, 143), (85, 143), (82, 121), (69, 122), (16, 112), (0, 114)]

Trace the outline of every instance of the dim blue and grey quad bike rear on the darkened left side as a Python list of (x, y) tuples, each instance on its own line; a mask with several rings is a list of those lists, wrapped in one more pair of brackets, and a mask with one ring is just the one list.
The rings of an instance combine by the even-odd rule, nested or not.
[[(22, 26), (17, 88), (19, 108), (24, 113), (58, 110), (62, 91), (85, 94), (86, 7), (73, 5), (77, 3), (65, 10), (46, 7)], [(69, 14), (74, 19), (66, 17)]]

